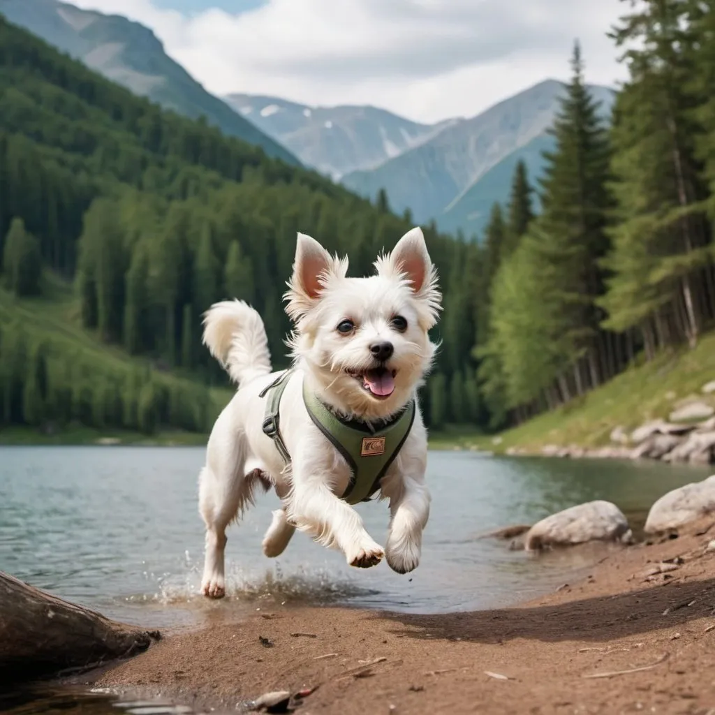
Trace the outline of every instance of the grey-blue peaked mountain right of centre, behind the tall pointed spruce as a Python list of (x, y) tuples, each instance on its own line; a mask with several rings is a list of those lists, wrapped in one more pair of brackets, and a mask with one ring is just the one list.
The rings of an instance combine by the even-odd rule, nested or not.
[[(608, 114), (613, 91), (598, 86), (590, 89), (602, 103), (601, 111)], [(565, 86), (554, 79), (540, 82), (472, 119), (446, 127), (376, 169), (347, 174), (342, 183), (371, 198), (384, 188), (392, 209), (411, 209), (417, 222), (433, 218), (439, 222), (490, 169), (543, 135), (553, 123), (564, 91)], [(499, 192), (501, 200), (506, 199), (506, 192)], [(460, 212), (465, 215), (470, 209)], [(451, 225), (470, 230), (469, 222)]]

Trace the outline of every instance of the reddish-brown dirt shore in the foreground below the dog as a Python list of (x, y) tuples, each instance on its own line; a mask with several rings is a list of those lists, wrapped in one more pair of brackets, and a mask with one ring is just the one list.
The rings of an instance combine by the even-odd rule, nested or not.
[(513, 608), (262, 611), (169, 636), (95, 684), (216, 711), (317, 687), (300, 714), (715, 715), (712, 539), (715, 519), (608, 550), (582, 583)]

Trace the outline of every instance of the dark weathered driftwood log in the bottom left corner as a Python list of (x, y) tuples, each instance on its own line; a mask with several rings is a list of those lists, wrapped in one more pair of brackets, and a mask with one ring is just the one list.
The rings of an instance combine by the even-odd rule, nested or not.
[(158, 638), (0, 571), (0, 680), (88, 670), (141, 653)]

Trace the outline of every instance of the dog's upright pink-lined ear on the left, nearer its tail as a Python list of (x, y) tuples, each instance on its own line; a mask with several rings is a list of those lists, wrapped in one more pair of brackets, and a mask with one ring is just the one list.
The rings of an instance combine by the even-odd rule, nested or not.
[(335, 277), (345, 277), (347, 259), (333, 257), (314, 238), (298, 234), (293, 275), (285, 294), (286, 312), (298, 320), (320, 300), (320, 294)]

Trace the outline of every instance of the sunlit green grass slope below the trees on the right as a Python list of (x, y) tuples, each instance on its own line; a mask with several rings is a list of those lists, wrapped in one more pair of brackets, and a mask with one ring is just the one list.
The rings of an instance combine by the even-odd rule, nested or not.
[(701, 388), (715, 380), (715, 332), (690, 350), (661, 353), (636, 365), (583, 398), (498, 435), (439, 435), (435, 445), (460, 445), (504, 452), (518, 447), (536, 452), (544, 445), (599, 447), (613, 428), (630, 431), (648, 420), (667, 418), (681, 400), (697, 398), (715, 406)]

